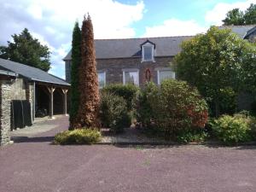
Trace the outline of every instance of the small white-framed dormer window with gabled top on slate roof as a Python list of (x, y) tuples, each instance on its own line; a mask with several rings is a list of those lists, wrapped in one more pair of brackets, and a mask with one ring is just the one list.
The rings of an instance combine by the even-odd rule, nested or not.
[(150, 42), (146, 41), (141, 45), (142, 48), (142, 61), (154, 61), (154, 48), (155, 45)]

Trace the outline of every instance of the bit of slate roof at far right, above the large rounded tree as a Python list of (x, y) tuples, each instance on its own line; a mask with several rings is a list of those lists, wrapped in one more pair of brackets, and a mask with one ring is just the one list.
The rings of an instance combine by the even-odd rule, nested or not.
[(255, 30), (255, 25), (252, 26), (218, 26), (219, 29), (231, 29), (232, 32), (235, 32), (239, 35), (240, 38), (246, 38), (249, 32)]

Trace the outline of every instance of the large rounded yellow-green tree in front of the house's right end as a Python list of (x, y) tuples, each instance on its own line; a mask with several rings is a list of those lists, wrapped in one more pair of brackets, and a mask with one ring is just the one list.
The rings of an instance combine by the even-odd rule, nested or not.
[(182, 44), (176, 55), (177, 78), (196, 86), (215, 116), (219, 116), (225, 90), (253, 89), (256, 49), (229, 29), (212, 26)]

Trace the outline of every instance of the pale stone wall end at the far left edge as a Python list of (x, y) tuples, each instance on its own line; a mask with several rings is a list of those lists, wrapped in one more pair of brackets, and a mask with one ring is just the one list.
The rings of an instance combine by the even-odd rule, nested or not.
[(0, 81), (0, 143), (10, 143), (11, 126), (11, 84), (8, 80)]

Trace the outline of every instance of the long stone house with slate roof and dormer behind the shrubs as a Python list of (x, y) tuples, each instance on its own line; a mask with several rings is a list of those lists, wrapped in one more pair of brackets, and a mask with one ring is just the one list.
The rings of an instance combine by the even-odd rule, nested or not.
[[(255, 26), (219, 26), (230, 28), (241, 38), (253, 40)], [(100, 87), (113, 83), (132, 83), (140, 87), (150, 80), (160, 84), (162, 79), (175, 79), (172, 60), (181, 50), (180, 44), (193, 38), (127, 38), (96, 39), (96, 63)], [(66, 80), (70, 82), (71, 51), (63, 59), (66, 67)]]

